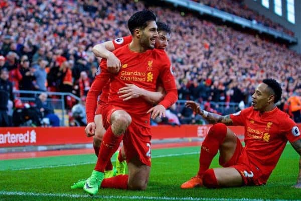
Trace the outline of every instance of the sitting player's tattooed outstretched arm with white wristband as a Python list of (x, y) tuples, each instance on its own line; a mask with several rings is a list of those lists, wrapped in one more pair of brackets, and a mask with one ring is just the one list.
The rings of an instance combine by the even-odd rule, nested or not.
[(207, 111), (201, 110), (201, 107), (192, 100), (188, 100), (188, 102), (185, 103), (185, 107), (191, 108), (195, 113), (201, 115), (210, 124), (223, 123), (227, 126), (231, 126), (233, 124), (230, 115), (221, 116), (214, 113), (208, 113)]

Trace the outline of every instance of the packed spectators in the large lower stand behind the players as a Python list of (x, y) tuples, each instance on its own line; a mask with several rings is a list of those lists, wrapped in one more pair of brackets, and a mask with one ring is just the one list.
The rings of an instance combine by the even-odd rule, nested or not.
[[(14, 89), (72, 92), (83, 98), (100, 61), (92, 47), (129, 35), (128, 18), (145, 7), (142, 2), (125, 0), (1, 2), (0, 68), (9, 70)], [(172, 27), (166, 51), (179, 99), (198, 100), (217, 113), (218, 108), (209, 102), (248, 106), (252, 86), (264, 78), (282, 84), (279, 107), (283, 110), (289, 96), (301, 94), (301, 56), (285, 45), (192, 14), (149, 9)], [(73, 105), (67, 102), (66, 106), (71, 110)], [(192, 123), (184, 121), (192, 112), (176, 112), (181, 114), (181, 123)]]

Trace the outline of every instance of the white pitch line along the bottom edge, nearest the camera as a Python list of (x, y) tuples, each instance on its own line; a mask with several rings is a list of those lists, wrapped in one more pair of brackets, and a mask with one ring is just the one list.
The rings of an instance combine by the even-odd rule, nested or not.
[[(91, 198), (87, 194), (67, 194), (67, 193), (39, 193), (23, 191), (0, 191), (0, 195), (19, 196), (45, 196), (45, 197), (67, 197), (67, 198)], [(121, 195), (94, 195), (92, 198), (102, 199), (134, 199), (134, 200), (192, 200), (192, 201), (289, 201), (288, 199), (250, 199), (250, 198), (212, 198), (212, 197), (157, 197), (157, 196), (121, 196)]]

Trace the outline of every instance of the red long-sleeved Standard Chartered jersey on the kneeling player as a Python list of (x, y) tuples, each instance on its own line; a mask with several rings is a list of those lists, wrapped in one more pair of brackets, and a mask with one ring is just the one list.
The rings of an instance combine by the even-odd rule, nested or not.
[(125, 86), (125, 83), (135, 84), (148, 91), (156, 91), (157, 80), (160, 78), (163, 80), (166, 96), (159, 104), (165, 108), (170, 107), (178, 99), (170, 60), (165, 51), (154, 49), (137, 53), (130, 51), (128, 45), (114, 50), (113, 53), (120, 59), (121, 69), (117, 74), (111, 74), (107, 70), (106, 59), (101, 61), (101, 72), (95, 77), (87, 95), (87, 122), (94, 121), (97, 95), (109, 81), (108, 104), (124, 109), (132, 118), (136, 118), (135, 121), (138, 124), (149, 127), (150, 114), (146, 114), (146, 112), (153, 105), (141, 97), (124, 102), (122, 98), (119, 98), (120, 94), (117, 94), (117, 92), (119, 88)]

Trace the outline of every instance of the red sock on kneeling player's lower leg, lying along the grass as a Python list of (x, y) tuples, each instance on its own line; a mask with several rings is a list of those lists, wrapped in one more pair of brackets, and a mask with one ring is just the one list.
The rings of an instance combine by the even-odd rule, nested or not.
[(101, 187), (127, 189), (127, 181), (128, 181), (128, 175), (120, 174), (117, 176), (103, 179), (101, 182)]

